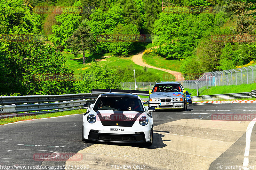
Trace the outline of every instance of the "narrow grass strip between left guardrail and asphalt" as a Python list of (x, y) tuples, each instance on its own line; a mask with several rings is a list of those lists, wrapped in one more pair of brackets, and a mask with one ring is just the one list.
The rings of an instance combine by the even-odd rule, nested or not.
[(11, 118), (6, 118), (6, 119), (0, 119), (0, 124), (7, 124), (7, 123), (13, 123), (13, 122), (31, 120), (31, 119), (58, 117), (58, 116), (64, 116), (64, 115), (75, 115), (75, 114), (81, 114), (81, 113), (85, 113), (85, 112), (86, 112), (86, 109), (79, 109), (79, 110), (71, 110), (71, 111), (66, 111), (66, 112), (56, 112), (56, 113), (48, 113), (48, 114), (40, 114), (40, 115), (11, 117)]

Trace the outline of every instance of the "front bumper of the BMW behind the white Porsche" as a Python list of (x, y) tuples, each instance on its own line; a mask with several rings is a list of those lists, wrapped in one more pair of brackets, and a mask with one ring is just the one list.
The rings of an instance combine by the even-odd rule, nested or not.
[[(166, 105), (167, 103), (168, 105)], [(148, 102), (148, 107), (155, 107), (156, 109), (183, 109), (184, 101), (182, 102)]]

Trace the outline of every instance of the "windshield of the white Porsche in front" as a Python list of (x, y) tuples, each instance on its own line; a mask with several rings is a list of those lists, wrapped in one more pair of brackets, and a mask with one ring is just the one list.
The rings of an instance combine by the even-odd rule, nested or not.
[(94, 107), (94, 110), (123, 110), (123, 111), (144, 111), (143, 105), (139, 99), (131, 97), (100, 97)]

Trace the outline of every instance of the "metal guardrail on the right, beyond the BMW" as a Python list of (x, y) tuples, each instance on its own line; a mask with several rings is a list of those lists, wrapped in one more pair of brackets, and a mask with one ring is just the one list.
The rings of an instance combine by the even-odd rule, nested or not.
[(243, 93), (214, 94), (214, 95), (191, 97), (192, 101), (242, 99), (242, 98), (256, 98), (256, 90), (252, 90), (251, 92), (243, 92)]

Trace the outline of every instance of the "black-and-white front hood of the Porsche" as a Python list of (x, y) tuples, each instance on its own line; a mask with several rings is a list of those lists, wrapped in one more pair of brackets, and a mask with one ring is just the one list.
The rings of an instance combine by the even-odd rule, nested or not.
[(121, 110), (94, 110), (103, 126), (132, 127), (138, 117), (144, 112)]

